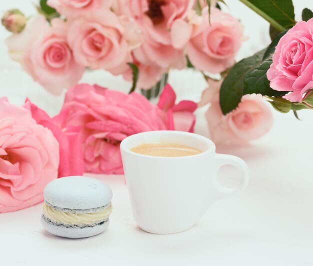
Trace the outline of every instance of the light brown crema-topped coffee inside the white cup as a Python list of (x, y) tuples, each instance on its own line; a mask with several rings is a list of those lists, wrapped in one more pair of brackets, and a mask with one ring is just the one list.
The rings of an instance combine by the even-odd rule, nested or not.
[(203, 151), (178, 143), (145, 143), (130, 149), (133, 152), (160, 157), (181, 157), (202, 153)]

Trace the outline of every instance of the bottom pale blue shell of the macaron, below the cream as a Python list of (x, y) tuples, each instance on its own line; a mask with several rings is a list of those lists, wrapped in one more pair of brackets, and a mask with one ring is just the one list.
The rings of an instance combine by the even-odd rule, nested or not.
[(92, 227), (70, 228), (50, 223), (44, 220), (41, 216), (41, 224), (44, 229), (52, 234), (68, 238), (82, 238), (93, 236), (105, 231), (108, 227), (109, 219), (102, 224), (94, 225)]

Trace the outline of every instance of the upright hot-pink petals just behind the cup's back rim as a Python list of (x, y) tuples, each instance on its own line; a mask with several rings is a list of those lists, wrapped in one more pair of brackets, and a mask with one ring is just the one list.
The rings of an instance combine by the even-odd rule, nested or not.
[(193, 112), (197, 104), (191, 100), (182, 100), (175, 104), (176, 94), (169, 84), (166, 84), (160, 94), (157, 106), (165, 112), (164, 121), (168, 130), (193, 132), (195, 116)]

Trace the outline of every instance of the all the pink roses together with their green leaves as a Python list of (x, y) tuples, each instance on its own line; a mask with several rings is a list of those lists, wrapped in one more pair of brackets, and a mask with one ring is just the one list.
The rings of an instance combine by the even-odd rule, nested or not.
[[(39, 14), (28, 19), (7, 11), (11, 58), (51, 93), (67, 91), (52, 118), (29, 100), (0, 99), (0, 212), (41, 201), (57, 177), (122, 173), (123, 138), (193, 132), (197, 107), (208, 106), (215, 142), (236, 143), (270, 129), (262, 95), (282, 112), (313, 108), (313, 13), (304, 9), (296, 23), (291, 0), (241, 1), (271, 23), (273, 41), (237, 63), (242, 25), (212, 0), (40, 0)], [(161, 86), (170, 69), (185, 67), (207, 81), (198, 103), (176, 103), (172, 87)], [(77, 84), (85, 69), (122, 75), (132, 81), (129, 94)], [(152, 86), (162, 89), (157, 105), (134, 92), (147, 96)]]

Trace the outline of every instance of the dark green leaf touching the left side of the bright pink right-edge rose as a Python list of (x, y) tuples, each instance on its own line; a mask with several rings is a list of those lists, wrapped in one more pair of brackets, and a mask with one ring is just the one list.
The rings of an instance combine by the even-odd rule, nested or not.
[(260, 93), (263, 96), (282, 96), (288, 91), (274, 90), (269, 86), (266, 72), (272, 63), (271, 57), (266, 58), (246, 73), (243, 81), (243, 94)]

